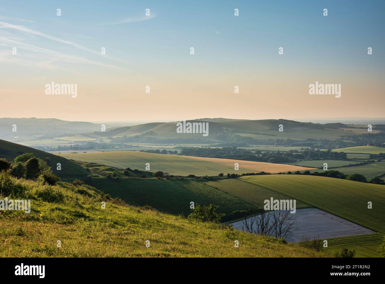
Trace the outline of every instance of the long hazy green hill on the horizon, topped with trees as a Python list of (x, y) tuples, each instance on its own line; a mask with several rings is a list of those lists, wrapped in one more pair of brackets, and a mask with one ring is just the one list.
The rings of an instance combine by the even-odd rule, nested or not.
[[(105, 132), (89, 133), (90, 136), (97, 138), (107, 137), (136, 137), (136, 140), (145, 142), (146, 139), (198, 139), (201, 141), (224, 142), (223, 135), (239, 134), (268, 139), (330, 139), (335, 140), (347, 135), (346, 131), (340, 128), (327, 128), (321, 124), (295, 122), (293, 120), (188, 120), (187, 122), (208, 122), (209, 135), (203, 137), (202, 134), (178, 134), (176, 133), (176, 122), (169, 123), (146, 123), (129, 127), (110, 128)], [(279, 125), (283, 125), (283, 132), (279, 132)], [(360, 134), (359, 132), (348, 132), (349, 135)], [(221, 136), (222, 135), (222, 136)], [(253, 136), (256, 135), (256, 136)], [(130, 140), (130, 139), (128, 139)]]

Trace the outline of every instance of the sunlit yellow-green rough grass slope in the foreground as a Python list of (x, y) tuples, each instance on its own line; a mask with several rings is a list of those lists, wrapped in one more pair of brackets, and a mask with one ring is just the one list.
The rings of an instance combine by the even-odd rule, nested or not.
[[(25, 183), (40, 188), (31, 181)], [(61, 184), (57, 203), (30, 196), (31, 213), (0, 211), (0, 257), (322, 257), (298, 245), (109, 201)], [(35, 190), (35, 189), (34, 189)], [(55, 192), (54, 191), (54, 192)], [(92, 194), (90, 194), (92, 195)], [(93, 195), (97, 195), (94, 192)], [(15, 198), (15, 197), (14, 197)], [(61, 247), (56, 247), (57, 240)], [(150, 247), (145, 247), (146, 240)], [(234, 247), (234, 240), (239, 247)]]

